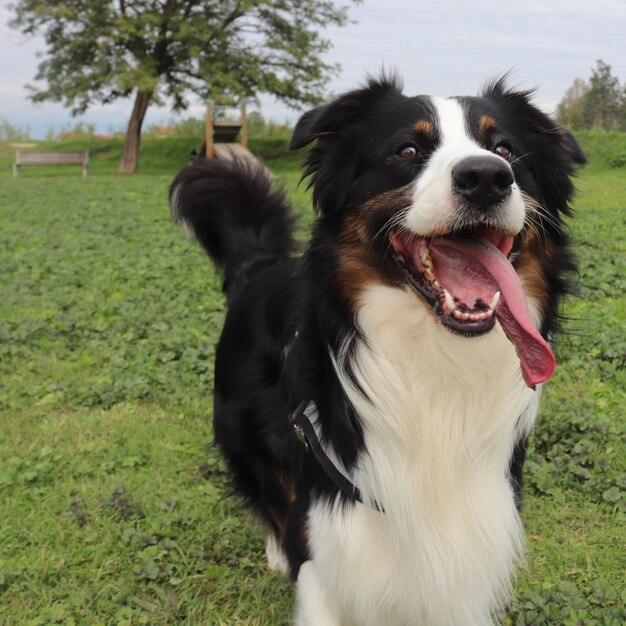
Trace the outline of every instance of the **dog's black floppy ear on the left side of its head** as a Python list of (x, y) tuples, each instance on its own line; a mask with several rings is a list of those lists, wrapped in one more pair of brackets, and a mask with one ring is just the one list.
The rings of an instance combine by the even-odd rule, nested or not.
[(395, 74), (370, 79), (364, 88), (308, 111), (296, 124), (290, 150), (315, 141), (307, 154), (303, 178), (310, 177), (316, 209), (331, 213), (343, 207), (357, 172), (356, 129), (373, 104), (391, 93), (402, 93)]

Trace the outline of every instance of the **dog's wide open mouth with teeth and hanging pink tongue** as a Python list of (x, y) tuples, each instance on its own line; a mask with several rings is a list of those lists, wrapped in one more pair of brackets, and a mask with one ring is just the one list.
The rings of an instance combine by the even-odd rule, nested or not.
[(497, 320), (515, 345), (526, 384), (550, 378), (554, 355), (509, 262), (512, 236), (492, 229), (432, 238), (394, 232), (389, 241), (406, 281), (444, 326), (469, 337), (489, 332)]

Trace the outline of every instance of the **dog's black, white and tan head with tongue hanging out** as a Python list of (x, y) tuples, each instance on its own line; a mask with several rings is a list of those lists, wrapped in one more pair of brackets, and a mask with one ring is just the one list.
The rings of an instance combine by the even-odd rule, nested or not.
[(585, 156), (571, 134), (504, 80), (442, 99), (384, 77), (306, 113), (290, 147), (311, 142), (305, 175), (346, 291), (409, 286), (466, 336), (498, 319), (528, 384), (549, 377), (536, 327), (551, 330), (572, 265), (561, 215)]

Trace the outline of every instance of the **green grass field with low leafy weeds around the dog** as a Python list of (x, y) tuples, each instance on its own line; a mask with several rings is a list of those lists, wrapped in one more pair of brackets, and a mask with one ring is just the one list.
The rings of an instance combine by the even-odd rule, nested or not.
[[(626, 621), (626, 137), (581, 141), (581, 297), (527, 466), (511, 625)], [(94, 142), (87, 179), (15, 181), (0, 145), (2, 625), (289, 623), (292, 588), (211, 444), (220, 281), (166, 198), (193, 147), (146, 142), (142, 174), (120, 177), (119, 144)], [(307, 222), (297, 157), (254, 149)]]

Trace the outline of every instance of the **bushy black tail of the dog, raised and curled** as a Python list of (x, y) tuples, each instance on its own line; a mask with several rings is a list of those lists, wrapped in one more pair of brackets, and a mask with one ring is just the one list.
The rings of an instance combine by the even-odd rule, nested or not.
[(197, 160), (170, 187), (174, 220), (225, 272), (224, 291), (242, 268), (295, 248), (291, 206), (260, 164)]

